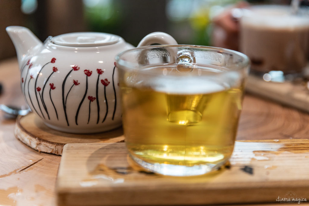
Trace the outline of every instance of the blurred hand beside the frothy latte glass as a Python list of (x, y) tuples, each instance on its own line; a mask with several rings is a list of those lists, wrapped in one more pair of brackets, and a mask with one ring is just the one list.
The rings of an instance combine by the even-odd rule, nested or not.
[(235, 6), (226, 9), (213, 19), (212, 46), (238, 51), (239, 44), (239, 19), (235, 18), (235, 8), (249, 6), (248, 2), (240, 1)]

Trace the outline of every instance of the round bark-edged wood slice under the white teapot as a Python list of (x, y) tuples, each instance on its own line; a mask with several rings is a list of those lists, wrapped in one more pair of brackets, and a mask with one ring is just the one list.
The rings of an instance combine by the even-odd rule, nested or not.
[(122, 128), (95, 134), (71, 134), (47, 127), (42, 120), (29, 113), (18, 116), (14, 128), (17, 139), (40, 152), (62, 154), (62, 149), (68, 143), (100, 143), (124, 142)]

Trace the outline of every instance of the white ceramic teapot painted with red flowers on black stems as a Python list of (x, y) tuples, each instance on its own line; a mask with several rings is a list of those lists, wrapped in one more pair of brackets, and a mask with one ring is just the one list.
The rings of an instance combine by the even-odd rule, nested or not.
[[(10, 26), (21, 89), (31, 110), (50, 128), (70, 133), (103, 132), (121, 126), (116, 54), (133, 48), (120, 36), (76, 32), (42, 43), (28, 28)], [(138, 46), (177, 44), (154, 32)]]

